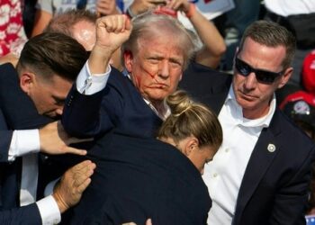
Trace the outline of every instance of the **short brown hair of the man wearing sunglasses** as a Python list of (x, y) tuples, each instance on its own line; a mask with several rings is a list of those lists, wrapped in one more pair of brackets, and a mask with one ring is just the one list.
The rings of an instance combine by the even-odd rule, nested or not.
[(267, 47), (284, 46), (286, 54), (282, 64), (284, 69), (290, 67), (295, 53), (296, 41), (293, 33), (286, 30), (284, 26), (267, 21), (257, 21), (250, 24), (240, 40), (239, 51), (243, 49), (247, 38)]

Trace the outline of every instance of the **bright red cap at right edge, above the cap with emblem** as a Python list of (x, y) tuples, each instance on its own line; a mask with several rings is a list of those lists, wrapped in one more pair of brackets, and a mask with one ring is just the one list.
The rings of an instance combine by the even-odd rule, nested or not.
[(308, 92), (315, 94), (315, 50), (312, 50), (303, 61), (302, 83)]

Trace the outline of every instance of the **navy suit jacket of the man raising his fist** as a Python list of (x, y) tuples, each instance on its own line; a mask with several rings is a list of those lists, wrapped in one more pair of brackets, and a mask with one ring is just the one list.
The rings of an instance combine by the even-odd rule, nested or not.
[(152, 137), (161, 122), (130, 79), (114, 68), (101, 92), (80, 94), (74, 85), (62, 115), (65, 130), (78, 137), (101, 136), (112, 129), (136, 137)]

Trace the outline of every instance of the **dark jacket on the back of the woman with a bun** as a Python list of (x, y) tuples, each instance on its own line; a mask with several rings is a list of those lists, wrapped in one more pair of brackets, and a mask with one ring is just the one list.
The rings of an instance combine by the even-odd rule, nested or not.
[(177, 148), (117, 133), (100, 140), (89, 150), (96, 169), (71, 224), (206, 224), (208, 189)]

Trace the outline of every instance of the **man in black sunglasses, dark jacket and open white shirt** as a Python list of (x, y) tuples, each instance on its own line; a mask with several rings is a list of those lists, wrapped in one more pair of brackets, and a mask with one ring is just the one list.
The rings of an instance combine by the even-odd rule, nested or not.
[(183, 76), (181, 87), (211, 106), (223, 129), (204, 167), (208, 224), (305, 224), (314, 144), (275, 103), (275, 90), (293, 73), (294, 50), (289, 31), (259, 21), (243, 35), (233, 76), (200, 65)]

